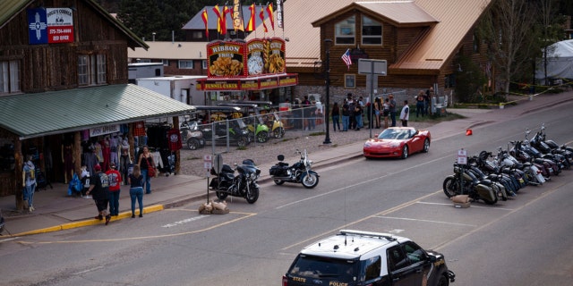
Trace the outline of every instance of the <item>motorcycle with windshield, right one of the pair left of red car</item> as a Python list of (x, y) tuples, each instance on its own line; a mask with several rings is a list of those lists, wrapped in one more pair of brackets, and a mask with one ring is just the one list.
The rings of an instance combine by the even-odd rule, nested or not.
[(270, 167), (269, 173), (275, 184), (282, 185), (287, 182), (302, 183), (304, 188), (312, 189), (319, 184), (320, 175), (318, 172), (312, 171), (312, 161), (308, 158), (306, 149), (304, 152), (296, 150), (296, 153), (301, 156), (301, 159), (295, 164), (289, 166), (284, 163), (284, 155), (277, 156), (278, 163)]

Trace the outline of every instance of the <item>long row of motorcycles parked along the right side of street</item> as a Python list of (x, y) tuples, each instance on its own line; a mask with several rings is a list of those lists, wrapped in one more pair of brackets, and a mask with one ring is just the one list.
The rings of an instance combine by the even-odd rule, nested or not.
[(469, 157), (467, 164), (454, 164), (454, 173), (443, 181), (446, 196), (468, 195), (493, 205), (516, 197), (527, 185), (543, 185), (562, 170), (570, 170), (573, 147), (546, 139), (544, 124), (532, 139), (530, 134), (526, 130), (525, 139), (510, 141), (506, 150), (499, 147), (495, 156), (482, 151)]

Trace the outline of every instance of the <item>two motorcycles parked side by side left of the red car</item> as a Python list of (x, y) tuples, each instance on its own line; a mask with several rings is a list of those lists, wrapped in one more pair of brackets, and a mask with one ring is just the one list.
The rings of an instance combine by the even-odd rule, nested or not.
[[(300, 156), (300, 160), (292, 165), (283, 162), (285, 156), (279, 155), (278, 163), (269, 170), (271, 178), (277, 185), (295, 182), (303, 184), (306, 189), (316, 187), (320, 175), (312, 170), (312, 160), (309, 159), (306, 149), (296, 150), (296, 154)], [(261, 176), (261, 169), (251, 159), (245, 159), (242, 164), (235, 164), (235, 169), (223, 164), (220, 172), (217, 172), (213, 167), (210, 173), (215, 177), (209, 186), (215, 190), (218, 199), (222, 200), (227, 196), (239, 197), (245, 198), (249, 204), (254, 204), (259, 199), (260, 189), (257, 180)]]

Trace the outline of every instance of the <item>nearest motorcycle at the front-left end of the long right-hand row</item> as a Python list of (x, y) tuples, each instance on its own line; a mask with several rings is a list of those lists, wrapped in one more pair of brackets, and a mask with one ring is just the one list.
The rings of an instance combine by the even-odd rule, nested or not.
[(478, 180), (474, 173), (464, 165), (454, 164), (454, 174), (443, 182), (443, 191), (448, 198), (457, 195), (468, 195), (474, 200), (481, 199), (488, 205), (498, 202), (498, 194), (492, 189), (489, 180)]

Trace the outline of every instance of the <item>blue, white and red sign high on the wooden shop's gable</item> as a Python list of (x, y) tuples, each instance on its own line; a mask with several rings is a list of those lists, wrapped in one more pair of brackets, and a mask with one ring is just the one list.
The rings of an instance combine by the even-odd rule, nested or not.
[(73, 43), (71, 8), (28, 9), (30, 45)]

